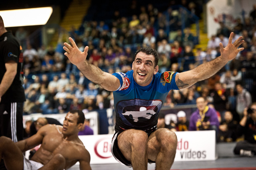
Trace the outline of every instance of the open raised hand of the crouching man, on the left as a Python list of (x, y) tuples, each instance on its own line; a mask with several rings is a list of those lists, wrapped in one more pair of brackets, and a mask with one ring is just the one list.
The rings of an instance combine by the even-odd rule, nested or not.
[(84, 52), (82, 52), (78, 49), (76, 43), (71, 37), (68, 38), (68, 40), (71, 42), (72, 46), (66, 42), (64, 43), (65, 46), (63, 47), (63, 49), (66, 51), (64, 55), (66, 55), (70, 62), (76, 66), (84, 63), (88, 54), (89, 47), (86, 46), (84, 48)]

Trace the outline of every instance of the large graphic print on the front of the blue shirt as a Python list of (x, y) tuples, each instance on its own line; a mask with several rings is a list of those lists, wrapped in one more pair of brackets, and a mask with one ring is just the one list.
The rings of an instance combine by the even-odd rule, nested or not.
[(161, 100), (131, 99), (119, 101), (117, 112), (122, 121), (131, 127), (146, 127), (157, 119)]

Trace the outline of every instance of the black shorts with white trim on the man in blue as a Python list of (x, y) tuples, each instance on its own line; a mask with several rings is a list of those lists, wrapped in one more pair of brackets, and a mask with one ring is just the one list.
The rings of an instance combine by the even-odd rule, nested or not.
[[(148, 137), (150, 136), (150, 134), (154, 131), (156, 131), (157, 128), (154, 127), (150, 130), (147, 130), (146, 133), (148, 134)], [(117, 137), (119, 134), (121, 134), (123, 131), (118, 131), (114, 134), (113, 138), (112, 138), (112, 144), (111, 144), (111, 152), (114, 156), (114, 158), (120, 162), (121, 164), (128, 166), (128, 167), (132, 167), (132, 164), (129, 160), (127, 160), (124, 155), (122, 154), (121, 150), (118, 147), (118, 140)], [(149, 160), (148, 159), (148, 163), (156, 163), (155, 161)]]

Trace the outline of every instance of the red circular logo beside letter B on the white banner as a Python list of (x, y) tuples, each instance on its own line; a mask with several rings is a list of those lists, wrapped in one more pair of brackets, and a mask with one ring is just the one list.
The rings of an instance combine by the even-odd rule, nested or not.
[(95, 154), (102, 158), (110, 158), (112, 156), (111, 153), (111, 139), (109, 138), (102, 138), (98, 140), (94, 146)]

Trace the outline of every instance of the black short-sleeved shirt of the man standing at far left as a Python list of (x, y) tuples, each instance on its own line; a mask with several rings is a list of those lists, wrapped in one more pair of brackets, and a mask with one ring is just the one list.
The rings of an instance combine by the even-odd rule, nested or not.
[(11, 32), (6, 32), (0, 36), (0, 81), (6, 72), (5, 63), (8, 61), (15, 61), (18, 63), (17, 74), (14, 80), (2, 96), (1, 103), (10, 102), (24, 102), (26, 101), (23, 84), (23, 53), (22, 47), (18, 40), (12, 35)]

